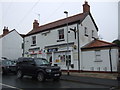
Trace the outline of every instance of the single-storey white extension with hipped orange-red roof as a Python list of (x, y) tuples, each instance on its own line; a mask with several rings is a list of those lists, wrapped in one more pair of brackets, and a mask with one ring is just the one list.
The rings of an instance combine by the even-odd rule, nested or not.
[(93, 40), (81, 48), (83, 71), (116, 72), (119, 48), (116, 44), (102, 40)]

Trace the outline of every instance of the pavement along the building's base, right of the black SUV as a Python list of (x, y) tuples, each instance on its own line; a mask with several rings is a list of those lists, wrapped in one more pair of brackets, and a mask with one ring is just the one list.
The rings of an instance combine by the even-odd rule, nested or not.
[(110, 87), (117, 87), (120, 90), (120, 81), (117, 80), (117, 73), (90, 73), (90, 72), (62, 72), (62, 80), (74, 81), (86, 84), (96, 84)]

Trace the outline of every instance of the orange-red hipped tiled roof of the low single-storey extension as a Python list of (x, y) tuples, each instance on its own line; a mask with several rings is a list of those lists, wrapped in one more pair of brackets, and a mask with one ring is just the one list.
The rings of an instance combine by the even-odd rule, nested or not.
[(110, 46), (116, 46), (116, 44), (102, 40), (93, 40), (92, 42), (83, 46), (81, 49), (92, 49), (92, 48), (101, 48), (101, 47), (110, 47)]

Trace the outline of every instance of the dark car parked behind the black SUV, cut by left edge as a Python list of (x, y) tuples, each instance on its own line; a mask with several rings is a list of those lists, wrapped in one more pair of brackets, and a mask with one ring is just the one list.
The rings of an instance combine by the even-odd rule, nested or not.
[(2, 60), (2, 74), (16, 73), (16, 62), (12, 60)]

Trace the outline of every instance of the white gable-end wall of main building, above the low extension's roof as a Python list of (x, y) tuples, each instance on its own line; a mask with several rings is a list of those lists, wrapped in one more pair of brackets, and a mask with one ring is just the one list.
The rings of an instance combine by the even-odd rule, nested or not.
[[(92, 30), (94, 30), (94, 37), (98, 38), (98, 32), (89, 15), (84, 19), (84, 21), (82, 22), (82, 24), (80, 24), (79, 27), (80, 27), (80, 32), (79, 32), (80, 33), (80, 47), (94, 40), (94, 38), (92, 38)], [(88, 30), (88, 37), (84, 35), (85, 27), (87, 27), (87, 30)]]

